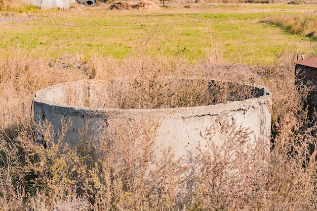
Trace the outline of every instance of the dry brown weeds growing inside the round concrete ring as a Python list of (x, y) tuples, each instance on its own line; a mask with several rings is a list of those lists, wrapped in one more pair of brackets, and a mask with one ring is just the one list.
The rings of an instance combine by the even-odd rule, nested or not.
[(259, 97), (261, 90), (246, 83), (210, 78), (175, 78), (157, 74), (138, 78), (82, 81), (64, 87), (59, 103), (110, 109), (197, 107)]

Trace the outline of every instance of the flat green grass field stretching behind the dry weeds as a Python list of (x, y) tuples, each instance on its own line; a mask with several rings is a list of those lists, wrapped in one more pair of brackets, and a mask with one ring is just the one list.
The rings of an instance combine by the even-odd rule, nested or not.
[(47, 59), (61, 55), (123, 58), (147, 37), (147, 45), (154, 50), (164, 48), (164, 54), (181, 54), (189, 61), (204, 58), (217, 47), (226, 63), (267, 65), (281, 51), (309, 54), (316, 49), (308, 37), (288, 34), (263, 19), (277, 12), (287, 16), (314, 8), (242, 4), (161, 11), (48, 11), (31, 15), (27, 22), (0, 24), (0, 52), (6, 55), (25, 48), (27, 54)]

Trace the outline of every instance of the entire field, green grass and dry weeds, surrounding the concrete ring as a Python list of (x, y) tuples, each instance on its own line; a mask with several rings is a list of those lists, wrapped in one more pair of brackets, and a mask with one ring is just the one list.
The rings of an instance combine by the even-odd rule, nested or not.
[[(317, 56), (317, 5), (183, 6), (0, 13), (0, 210), (317, 209), (316, 127), (303, 109), (309, 90), (294, 83), (296, 54)], [(192, 181), (194, 192), (180, 197), (185, 169), (169, 152), (153, 180), (144, 179), (155, 125), (117, 125), (99, 161), (91, 159), (89, 141), (63, 146), (60, 134), (54, 142), (49, 124), (42, 126), (49, 147), (34, 141), (36, 91), (66, 81), (165, 75), (269, 87), (271, 151), (262, 153), (259, 140), (257, 149), (226, 157), (248, 138), (243, 130), (230, 134), (213, 155), (197, 154), (206, 168)]]

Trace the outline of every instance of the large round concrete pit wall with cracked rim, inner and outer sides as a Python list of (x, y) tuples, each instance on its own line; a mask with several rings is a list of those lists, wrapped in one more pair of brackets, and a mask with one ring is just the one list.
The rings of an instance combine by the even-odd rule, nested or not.
[[(100, 140), (106, 140), (103, 138), (105, 130), (111, 130), (111, 125), (117, 122), (157, 123), (154, 146), (157, 160), (162, 159), (163, 151), (169, 147), (175, 159), (193, 153), (199, 146), (205, 147), (206, 139), (201, 134), (210, 127), (216, 145), (228, 138), (224, 132), (226, 125), (236, 131), (241, 128), (249, 131), (251, 144), (259, 139), (269, 143), (271, 93), (266, 87), (217, 81), (206, 83), (196, 79), (165, 78), (161, 82), (152, 85), (157, 88), (154, 94), (162, 96), (161, 99), (155, 98), (153, 93), (146, 98), (145, 92), (142, 93), (144, 89), (138, 88), (144, 83), (132, 79), (76, 81), (40, 90), (34, 98), (35, 131), (41, 139), (38, 125), (44, 120), (52, 123), (55, 134), (62, 130), (62, 119), (71, 121), (63, 142), (72, 146), (78, 141), (93, 140), (97, 158), (100, 157)], [(151, 83), (144, 87), (150, 87)], [(190, 87), (188, 84), (196, 85)], [(190, 95), (191, 88), (201, 93)], [(149, 88), (146, 93), (150, 91)], [(200, 102), (183, 100), (185, 95)], [(129, 101), (129, 97), (134, 100)], [(177, 103), (176, 98), (183, 101)], [(151, 106), (146, 108), (147, 102), (153, 99), (156, 103), (148, 103)], [(127, 104), (130, 107), (125, 108)]]

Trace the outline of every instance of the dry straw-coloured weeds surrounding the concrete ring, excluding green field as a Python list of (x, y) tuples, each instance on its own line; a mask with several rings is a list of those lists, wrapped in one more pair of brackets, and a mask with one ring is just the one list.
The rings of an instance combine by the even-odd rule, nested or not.
[[(95, 56), (83, 61), (63, 56), (43, 61), (20, 51), (0, 59), (2, 210), (317, 208), (316, 126), (308, 124), (303, 108), (309, 90), (298, 89), (294, 83), (293, 52), (281, 54), (270, 66), (250, 69), (212, 65), (213, 54), (201, 59), (201, 65), (192, 65), (180, 55), (149, 55), (149, 48), (143, 47), (121, 60)], [(212, 123), (201, 131), (212, 153), (202, 147), (191, 157), (175, 160), (167, 150), (159, 162), (154, 162), (152, 153), (157, 122), (113, 123), (104, 131), (99, 160), (93, 159), (96, 146), (89, 139), (80, 138), (73, 147), (62, 144), (71, 122), (64, 121), (63, 130), (54, 133), (51, 124), (45, 122), (38, 126), (43, 142), (34, 140), (31, 104), (39, 89), (80, 79), (135, 78), (134, 94), (149, 98), (144, 100), (147, 104), (131, 103), (129, 107), (155, 108), (161, 107), (167, 94), (162, 89), (170, 82), (165, 76), (238, 79), (268, 86), (273, 94), (270, 152), (262, 140), (256, 147), (248, 146), (249, 132), (232, 125), (223, 126), (228, 139), (215, 146)], [(163, 98), (153, 98), (151, 87), (157, 93), (163, 90)], [(206, 93), (200, 86), (192, 88), (195, 93)], [(180, 86), (177, 93), (183, 96), (186, 91), (187, 86)], [(127, 104), (122, 103), (120, 108)], [(200, 166), (190, 175), (186, 172), (191, 166), (180, 165), (188, 158), (191, 165)]]

